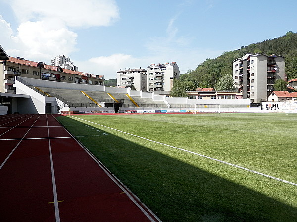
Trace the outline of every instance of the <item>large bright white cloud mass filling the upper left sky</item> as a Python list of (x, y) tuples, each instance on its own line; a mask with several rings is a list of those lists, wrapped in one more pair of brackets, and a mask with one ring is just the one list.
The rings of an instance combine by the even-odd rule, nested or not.
[(0, 40), (9, 55), (30, 60), (47, 62), (58, 54), (70, 55), (77, 50), (77, 33), (70, 28), (108, 26), (119, 18), (114, 0), (10, 0), (7, 3), (20, 24), (13, 34), (10, 24), (0, 15)]

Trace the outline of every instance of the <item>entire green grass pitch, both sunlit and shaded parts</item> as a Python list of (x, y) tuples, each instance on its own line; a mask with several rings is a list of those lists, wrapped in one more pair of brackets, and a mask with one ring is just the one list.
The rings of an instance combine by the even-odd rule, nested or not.
[(297, 114), (58, 120), (162, 221), (297, 221), (296, 185), (177, 149), (296, 184)]

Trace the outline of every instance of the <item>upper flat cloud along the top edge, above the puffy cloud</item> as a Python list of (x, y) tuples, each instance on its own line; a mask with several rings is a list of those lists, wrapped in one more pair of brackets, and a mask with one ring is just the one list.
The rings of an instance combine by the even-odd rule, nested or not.
[(20, 23), (52, 18), (68, 27), (109, 26), (119, 18), (114, 0), (10, 0)]

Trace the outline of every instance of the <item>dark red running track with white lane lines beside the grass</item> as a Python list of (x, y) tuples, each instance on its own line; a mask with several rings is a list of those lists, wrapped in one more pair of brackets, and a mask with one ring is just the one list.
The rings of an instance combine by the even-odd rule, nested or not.
[(158, 221), (51, 114), (0, 116), (1, 221)]

